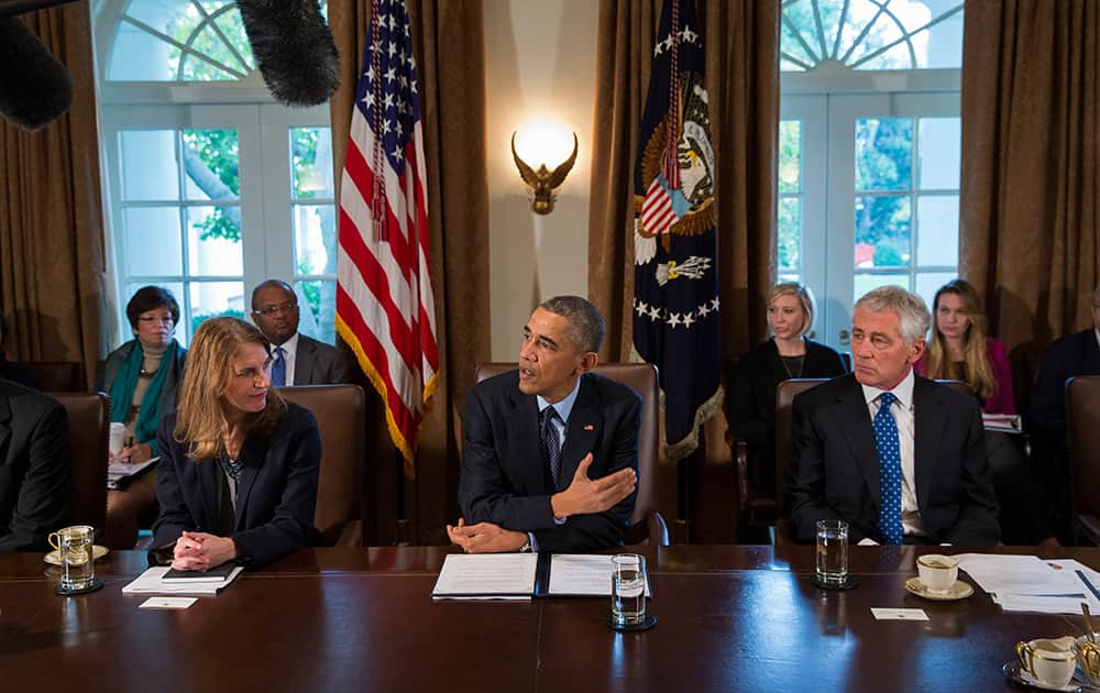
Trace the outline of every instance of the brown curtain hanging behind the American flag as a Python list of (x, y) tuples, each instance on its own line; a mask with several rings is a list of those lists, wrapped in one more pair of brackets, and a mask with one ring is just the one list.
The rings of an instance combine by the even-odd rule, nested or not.
[[(431, 282), (442, 377), (421, 429), (416, 476), (406, 480), (403, 502), (413, 525), (410, 541), (446, 543), (443, 525), (458, 518), (458, 414), (473, 385), (474, 366), (490, 360), (485, 38), (480, 0), (408, 0), (407, 6), (428, 169)], [(329, 1), (341, 69), (340, 89), (331, 101), (337, 180), (370, 18), (370, 0)], [(381, 399), (373, 399), (371, 465), (380, 469), (369, 473), (367, 483), (375, 486), (378, 536), (373, 540), (386, 543), (393, 538), (387, 521), (399, 480), (387, 471), (396, 469), (388, 462), (395, 459), (395, 449), (381, 418)]]

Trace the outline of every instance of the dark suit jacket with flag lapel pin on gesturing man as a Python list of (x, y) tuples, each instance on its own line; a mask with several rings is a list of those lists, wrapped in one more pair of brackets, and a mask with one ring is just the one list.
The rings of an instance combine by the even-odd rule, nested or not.
[[(638, 471), (641, 398), (626, 385), (592, 373), (565, 422), (559, 490), (568, 488), (592, 453), (590, 479), (629, 466)], [(556, 525), (556, 493), (539, 438), (538, 403), (519, 392), (519, 372), (483, 381), (466, 395), (459, 506), (466, 522), (494, 522), (535, 535), (540, 551), (591, 551), (620, 546), (637, 491), (615, 507)]]

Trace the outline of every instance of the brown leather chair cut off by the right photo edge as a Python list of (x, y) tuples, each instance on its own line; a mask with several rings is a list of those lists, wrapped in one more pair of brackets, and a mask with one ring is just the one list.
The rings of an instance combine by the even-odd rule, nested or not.
[(1100, 375), (1079, 375), (1066, 382), (1066, 435), (1077, 526), (1100, 544)]

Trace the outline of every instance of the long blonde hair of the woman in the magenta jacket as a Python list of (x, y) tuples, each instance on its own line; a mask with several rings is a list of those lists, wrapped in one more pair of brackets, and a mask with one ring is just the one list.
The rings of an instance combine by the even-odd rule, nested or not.
[[(974, 388), (974, 392), (982, 399), (989, 398), (997, 389), (997, 381), (993, 378), (993, 367), (989, 363), (989, 354), (986, 351), (986, 314), (981, 309), (981, 299), (978, 292), (970, 286), (966, 279), (953, 279), (939, 287), (936, 297), (932, 299), (933, 318), (939, 312), (939, 297), (944, 294), (954, 294), (963, 299), (963, 307), (970, 319), (970, 327), (967, 328), (966, 343), (963, 346), (963, 361), (966, 363), (966, 383)], [(933, 319), (932, 340), (928, 343), (928, 377), (947, 378), (961, 381), (963, 374), (958, 366), (952, 361), (947, 351), (947, 340), (939, 326)]]

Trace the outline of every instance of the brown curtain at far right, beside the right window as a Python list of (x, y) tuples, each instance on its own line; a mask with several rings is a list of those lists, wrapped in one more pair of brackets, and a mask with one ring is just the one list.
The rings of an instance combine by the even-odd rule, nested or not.
[(1098, 42), (1093, 0), (966, 6), (960, 273), (986, 295), (991, 331), (1025, 387), (1053, 339), (1091, 324), (1100, 280)]

